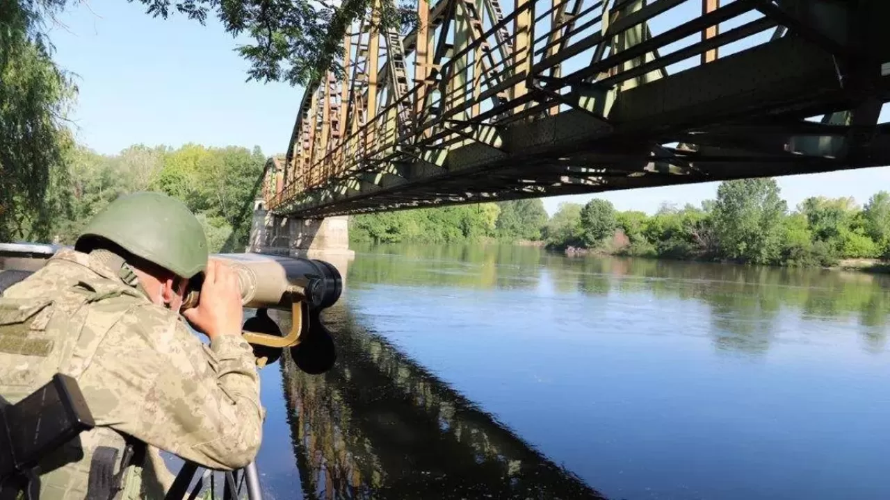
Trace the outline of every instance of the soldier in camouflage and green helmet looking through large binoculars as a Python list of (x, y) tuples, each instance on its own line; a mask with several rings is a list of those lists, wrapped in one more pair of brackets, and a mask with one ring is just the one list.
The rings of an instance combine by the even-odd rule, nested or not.
[[(202, 272), (198, 307), (181, 315)], [(0, 395), (15, 403), (65, 373), (96, 423), (41, 464), (41, 498), (163, 495), (172, 477), (158, 448), (214, 469), (249, 464), (265, 413), (242, 317), (234, 272), (208, 262), (201, 224), (158, 193), (117, 198), (73, 250), (8, 288)]]

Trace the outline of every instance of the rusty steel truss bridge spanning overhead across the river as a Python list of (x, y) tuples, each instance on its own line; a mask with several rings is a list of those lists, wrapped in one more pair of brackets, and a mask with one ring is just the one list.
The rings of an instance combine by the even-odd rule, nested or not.
[(890, 165), (886, 0), (417, 0), (404, 36), (378, 6), (267, 164), (273, 213)]

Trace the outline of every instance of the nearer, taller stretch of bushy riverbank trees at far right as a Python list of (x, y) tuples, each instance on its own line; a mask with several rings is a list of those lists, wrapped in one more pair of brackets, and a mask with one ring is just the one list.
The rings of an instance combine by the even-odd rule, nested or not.
[(862, 208), (853, 198), (807, 198), (789, 212), (773, 179), (725, 181), (700, 208), (662, 206), (651, 216), (617, 212), (602, 199), (563, 204), (544, 233), (556, 249), (828, 266), (890, 257), (890, 193), (876, 193)]

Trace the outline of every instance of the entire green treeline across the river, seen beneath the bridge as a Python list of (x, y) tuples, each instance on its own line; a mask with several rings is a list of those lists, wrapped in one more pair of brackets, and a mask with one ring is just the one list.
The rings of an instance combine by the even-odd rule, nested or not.
[(890, 257), (890, 193), (807, 198), (790, 210), (774, 179), (724, 181), (700, 207), (618, 212), (610, 202), (563, 203), (548, 218), (540, 199), (418, 209), (352, 218), (356, 242), (538, 240), (549, 249), (673, 259), (832, 266)]

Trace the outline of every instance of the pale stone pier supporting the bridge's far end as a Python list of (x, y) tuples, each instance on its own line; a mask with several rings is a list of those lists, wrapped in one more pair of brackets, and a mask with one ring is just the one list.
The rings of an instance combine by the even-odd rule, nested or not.
[(254, 205), (247, 252), (305, 257), (330, 262), (346, 282), (346, 270), (355, 252), (349, 249), (349, 218), (324, 219), (279, 217), (266, 210), (263, 201)]

